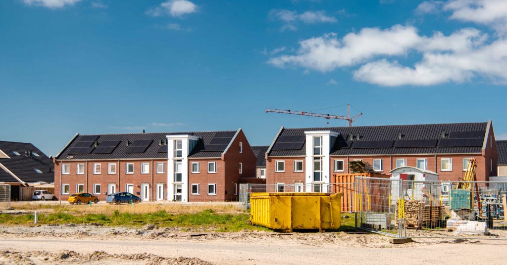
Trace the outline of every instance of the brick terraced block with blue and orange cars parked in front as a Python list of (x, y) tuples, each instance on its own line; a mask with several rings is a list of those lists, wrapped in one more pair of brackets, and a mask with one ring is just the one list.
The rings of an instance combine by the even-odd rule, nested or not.
[(62, 200), (130, 192), (143, 201), (235, 201), (240, 177), (255, 177), (243, 131), (74, 136), (55, 157)]

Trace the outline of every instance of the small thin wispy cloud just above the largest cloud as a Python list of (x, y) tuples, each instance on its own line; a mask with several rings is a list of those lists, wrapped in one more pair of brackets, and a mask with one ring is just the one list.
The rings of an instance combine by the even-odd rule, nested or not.
[(297, 24), (303, 22), (306, 24), (315, 23), (335, 23), (338, 20), (335, 17), (329, 16), (325, 11), (306, 11), (298, 14), (296, 11), (290, 11), (286, 9), (273, 9), (269, 12), (269, 17), (272, 20), (278, 20), (283, 22), (280, 30), (296, 30), (298, 29)]

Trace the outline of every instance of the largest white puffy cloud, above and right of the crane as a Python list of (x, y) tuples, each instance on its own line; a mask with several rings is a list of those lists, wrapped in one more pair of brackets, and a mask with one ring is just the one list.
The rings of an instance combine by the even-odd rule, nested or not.
[[(418, 34), (413, 26), (364, 28), (342, 39), (331, 33), (301, 41), (295, 55), (272, 57), (268, 63), (321, 72), (363, 64), (354, 78), (382, 86), (461, 83), (474, 77), (507, 83), (507, 40), (488, 41), (487, 34), (474, 28), (430, 36)], [(421, 54), (421, 60), (410, 67), (389, 60), (409, 53)]]

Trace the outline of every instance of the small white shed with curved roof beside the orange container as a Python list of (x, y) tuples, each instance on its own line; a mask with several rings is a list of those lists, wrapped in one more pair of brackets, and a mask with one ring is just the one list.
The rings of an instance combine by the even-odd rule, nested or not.
[[(431, 194), (434, 198), (440, 198), (442, 185), (439, 174), (415, 167), (399, 167), (390, 171), (391, 180), (407, 180), (403, 183), (403, 197), (411, 200), (425, 200)], [(434, 182), (433, 182), (434, 181)], [(398, 198), (400, 193), (399, 182), (393, 182), (392, 198)], [(426, 193), (426, 196), (425, 196)]]

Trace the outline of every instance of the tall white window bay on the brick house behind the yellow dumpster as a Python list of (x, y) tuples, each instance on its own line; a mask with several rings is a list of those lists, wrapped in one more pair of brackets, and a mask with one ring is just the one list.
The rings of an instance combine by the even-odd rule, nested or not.
[(329, 192), (329, 154), (339, 135), (333, 131), (306, 131), (305, 183), (306, 192)]

